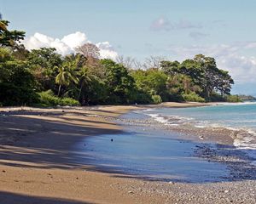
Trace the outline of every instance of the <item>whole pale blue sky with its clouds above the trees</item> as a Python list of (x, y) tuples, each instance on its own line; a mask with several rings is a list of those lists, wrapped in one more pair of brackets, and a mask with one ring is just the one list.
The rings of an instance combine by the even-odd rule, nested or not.
[(255, 0), (0, 0), (10, 29), (26, 31), (26, 48), (68, 54), (93, 42), (102, 57), (140, 61), (205, 54), (230, 71), (233, 94), (254, 95), (255, 10)]

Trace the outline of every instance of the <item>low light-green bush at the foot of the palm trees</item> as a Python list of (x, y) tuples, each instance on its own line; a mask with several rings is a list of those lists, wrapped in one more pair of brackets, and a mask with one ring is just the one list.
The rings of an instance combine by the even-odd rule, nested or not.
[(72, 99), (72, 98), (59, 98), (55, 96), (55, 94), (52, 92), (52, 90), (48, 90), (45, 92), (39, 93), (39, 100), (42, 105), (49, 105), (49, 106), (55, 106), (55, 105), (79, 105), (79, 101)]

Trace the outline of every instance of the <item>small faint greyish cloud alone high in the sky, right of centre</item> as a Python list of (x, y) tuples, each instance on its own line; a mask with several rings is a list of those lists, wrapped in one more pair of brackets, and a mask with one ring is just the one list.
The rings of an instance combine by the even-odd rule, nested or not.
[(150, 26), (153, 31), (172, 31), (172, 30), (183, 30), (183, 29), (200, 29), (203, 26), (201, 24), (194, 24), (189, 20), (179, 20), (177, 22), (172, 22), (167, 18), (160, 17), (154, 20)]

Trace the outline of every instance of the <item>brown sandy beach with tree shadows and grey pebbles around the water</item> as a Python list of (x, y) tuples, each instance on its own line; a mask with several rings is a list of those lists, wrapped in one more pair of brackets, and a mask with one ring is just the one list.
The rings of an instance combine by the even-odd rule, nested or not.
[[(128, 111), (202, 105), (206, 104), (0, 108), (0, 199), (3, 203), (254, 203), (255, 178), (239, 176), (241, 171), (237, 169), (234, 180), (189, 184), (104, 173), (73, 160), (73, 144), (84, 138), (123, 133), (119, 116)], [(172, 131), (190, 132), (177, 128)], [(228, 133), (201, 130), (187, 137), (192, 134), (192, 140), (201, 143), (197, 152), (201, 157), (235, 162), (235, 157), (216, 156), (204, 145), (207, 141), (231, 145)]]

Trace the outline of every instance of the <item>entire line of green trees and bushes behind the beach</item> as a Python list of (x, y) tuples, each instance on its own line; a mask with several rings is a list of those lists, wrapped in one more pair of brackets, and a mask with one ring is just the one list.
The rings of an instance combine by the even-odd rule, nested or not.
[[(100, 59), (93, 43), (61, 56), (55, 48), (26, 50), (24, 31), (0, 20), (0, 105), (158, 104), (163, 101), (231, 101), (228, 71), (202, 54), (183, 62), (137, 63)], [(153, 59), (153, 58), (152, 58)]]

